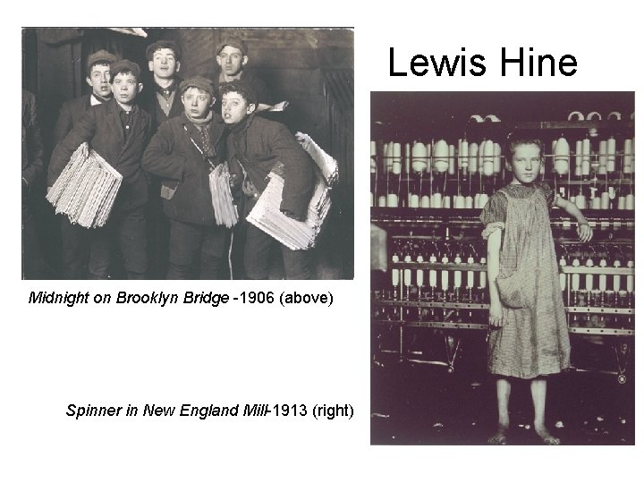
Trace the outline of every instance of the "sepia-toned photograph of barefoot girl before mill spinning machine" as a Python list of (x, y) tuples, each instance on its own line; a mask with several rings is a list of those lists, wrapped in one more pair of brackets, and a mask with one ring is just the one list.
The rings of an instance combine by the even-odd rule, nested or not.
[(634, 109), (371, 92), (371, 445), (635, 444)]

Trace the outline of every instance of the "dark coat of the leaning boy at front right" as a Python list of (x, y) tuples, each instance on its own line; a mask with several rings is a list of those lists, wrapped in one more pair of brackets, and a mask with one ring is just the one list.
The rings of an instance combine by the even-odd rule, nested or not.
[(298, 220), (306, 219), (315, 162), (284, 124), (250, 114), (228, 136), (228, 159), (231, 173), (242, 179), (241, 163), (259, 192), (266, 189), (267, 175), (275, 164), (282, 163), (284, 191), (280, 209)]

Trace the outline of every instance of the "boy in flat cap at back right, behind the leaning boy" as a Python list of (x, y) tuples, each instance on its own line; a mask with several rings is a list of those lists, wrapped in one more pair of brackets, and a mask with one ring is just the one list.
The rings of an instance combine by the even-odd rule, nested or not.
[(224, 38), (216, 50), (216, 63), (221, 68), (217, 78), (217, 89), (227, 82), (242, 80), (250, 87), (258, 100), (257, 111), (266, 111), (273, 105), (271, 92), (266, 82), (258, 78), (253, 72), (245, 69), (248, 64), (248, 47), (242, 38), (229, 36)]

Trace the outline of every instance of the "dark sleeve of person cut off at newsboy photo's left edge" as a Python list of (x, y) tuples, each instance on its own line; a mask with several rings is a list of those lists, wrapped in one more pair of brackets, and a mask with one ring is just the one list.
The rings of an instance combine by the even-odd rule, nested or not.
[(41, 180), (43, 143), (36, 116), (36, 97), (22, 89), (22, 179), (27, 186)]

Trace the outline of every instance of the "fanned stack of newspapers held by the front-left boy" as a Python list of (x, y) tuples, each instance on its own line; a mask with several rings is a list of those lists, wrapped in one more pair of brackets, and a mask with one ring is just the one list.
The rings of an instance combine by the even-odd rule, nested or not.
[(122, 180), (122, 174), (83, 143), (47, 193), (47, 200), (72, 223), (97, 228), (106, 224)]

